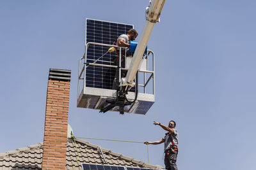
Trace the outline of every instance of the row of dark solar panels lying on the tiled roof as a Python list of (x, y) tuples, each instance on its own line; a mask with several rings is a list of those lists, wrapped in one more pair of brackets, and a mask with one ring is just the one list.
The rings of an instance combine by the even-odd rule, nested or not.
[(141, 168), (141, 167), (124, 167), (124, 166), (107, 166), (100, 164), (83, 164), (83, 170), (157, 170), (150, 168)]

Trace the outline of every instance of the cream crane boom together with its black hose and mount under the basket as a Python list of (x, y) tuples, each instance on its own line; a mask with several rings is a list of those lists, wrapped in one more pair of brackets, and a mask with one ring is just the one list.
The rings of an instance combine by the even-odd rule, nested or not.
[[(149, 1), (149, 6), (146, 8), (146, 22), (143, 27), (143, 31), (141, 33), (140, 39), (136, 46), (134, 55), (132, 57), (131, 64), (127, 71), (125, 78), (121, 78), (121, 68), (119, 68), (119, 80), (121, 78), (120, 86), (116, 90), (116, 99), (107, 99), (106, 105), (102, 106), (100, 112), (105, 113), (109, 111), (115, 106), (119, 106), (120, 114), (124, 114), (124, 107), (131, 105), (137, 100), (138, 97), (138, 68), (140, 66), (141, 59), (143, 57), (143, 53), (145, 52), (145, 48), (148, 43), (148, 39), (150, 38), (151, 32), (154, 28), (156, 22), (159, 22), (159, 17), (161, 15), (161, 11), (163, 10), (163, 6), (165, 0), (152, 0)], [(120, 50), (121, 57), (121, 50)], [(119, 66), (121, 66), (121, 60), (119, 60)], [(137, 74), (137, 76), (136, 76)], [(126, 98), (126, 94), (129, 89), (134, 86), (134, 78), (136, 77), (136, 92), (133, 101), (128, 101)]]

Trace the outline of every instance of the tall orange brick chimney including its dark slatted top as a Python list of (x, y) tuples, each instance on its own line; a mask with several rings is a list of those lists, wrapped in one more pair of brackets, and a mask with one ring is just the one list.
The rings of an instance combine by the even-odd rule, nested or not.
[(70, 76), (70, 70), (49, 71), (42, 169), (66, 169)]

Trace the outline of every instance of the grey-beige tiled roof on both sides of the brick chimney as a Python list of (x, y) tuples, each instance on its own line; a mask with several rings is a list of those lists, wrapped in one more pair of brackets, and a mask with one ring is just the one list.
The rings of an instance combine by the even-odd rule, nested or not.
[[(76, 148), (77, 146), (77, 148)], [(79, 157), (77, 157), (77, 150)], [(153, 166), (139, 160), (135, 160), (131, 157), (125, 157), (120, 153), (112, 152), (93, 145), (87, 141), (76, 139), (76, 145), (72, 139), (68, 139), (67, 142), (67, 164), (66, 169), (72, 169), (76, 165), (75, 169), (82, 170), (81, 163), (89, 164), (106, 164), (114, 166), (132, 166), (132, 167), (145, 167), (152, 169), (163, 169), (161, 166)], [(36, 145), (30, 145), (26, 148), (19, 148), (15, 151), (0, 153), (0, 170), (2, 169), (41, 169), (42, 168), (42, 154), (43, 144), (38, 143)], [(105, 160), (104, 160), (105, 158)], [(106, 161), (106, 162), (105, 162)]]

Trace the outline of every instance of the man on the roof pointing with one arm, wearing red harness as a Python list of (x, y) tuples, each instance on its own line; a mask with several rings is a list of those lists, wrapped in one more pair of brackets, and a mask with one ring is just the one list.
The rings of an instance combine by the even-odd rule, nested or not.
[(161, 138), (159, 141), (145, 141), (145, 144), (158, 145), (164, 143), (164, 164), (165, 169), (168, 170), (177, 170), (177, 155), (178, 155), (178, 138), (179, 134), (176, 127), (176, 123), (171, 120), (168, 127), (166, 125), (160, 124), (159, 122), (154, 121), (154, 125), (161, 126), (165, 131), (168, 131), (164, 138)]

